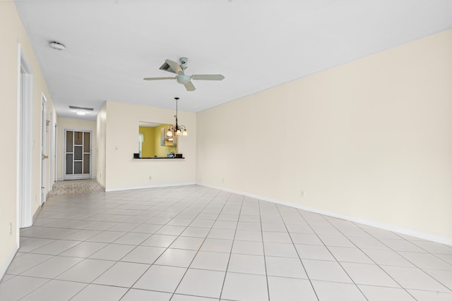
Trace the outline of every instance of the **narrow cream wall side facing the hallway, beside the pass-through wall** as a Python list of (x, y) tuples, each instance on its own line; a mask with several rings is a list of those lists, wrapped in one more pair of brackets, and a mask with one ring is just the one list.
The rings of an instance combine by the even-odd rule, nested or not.
[(97, 182), (105, 188), (106, 182), (106, 147), (107, 147), (107, 104), (97, 114)]

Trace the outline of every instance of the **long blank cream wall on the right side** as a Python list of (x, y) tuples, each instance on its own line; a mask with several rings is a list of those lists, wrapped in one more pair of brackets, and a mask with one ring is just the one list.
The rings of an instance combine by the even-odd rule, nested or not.
[(202, 111), (197, 181), (452, 244), (451, 66), (447, 30)]

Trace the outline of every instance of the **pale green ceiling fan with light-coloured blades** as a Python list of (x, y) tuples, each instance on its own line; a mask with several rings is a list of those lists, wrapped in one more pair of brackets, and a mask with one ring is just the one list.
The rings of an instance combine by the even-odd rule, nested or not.
[(221, 74), (193, 74), (193, 75), (185, 75), (184, 70), (186, 69), (186, 58), (180, 58), (180, 65), (175, 61), (171, 61), (169, 59), (165, 60), (162, 66), (160, 66), (160, 70), (165, 70), (171, 73), (176, 73), (177, 75), (174, 77), (166, 77), (166, 78), (143, 78), (143, 80), (174, 80), (176, 79), (179, 84), (185, 86), (187, 91), (196, 90), (195, 86), (191, 82), (191, 80), (223, 80), (225, 77)]

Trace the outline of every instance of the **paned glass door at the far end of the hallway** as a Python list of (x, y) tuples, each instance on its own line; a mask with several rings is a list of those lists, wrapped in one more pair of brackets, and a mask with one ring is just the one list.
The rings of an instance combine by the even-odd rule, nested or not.
[(91, 178), (90, 130), (64, 130), (64, 180)]

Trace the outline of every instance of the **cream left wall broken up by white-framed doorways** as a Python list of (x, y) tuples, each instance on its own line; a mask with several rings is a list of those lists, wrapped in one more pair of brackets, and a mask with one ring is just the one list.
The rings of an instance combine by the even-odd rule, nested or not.
[[(0, 173), (0, 277), (4, 271), (16, 248), (18, 247), (17, 237), (17, 189), (18, 189), (18, 44), (23, 56), (28, 61), (32, 69), (32, 214), (35, 214), (40, 207), (41, 190), (41, 94), (47, 98), (47, 116), (54, 112), (52, 98), (47, 91), (44, 78), (37, 63), (35, 54), (32, 51), (28, 37), (25, 34), (23, 25), (20, 22), (16, 6), (13, 1), (0, 1), (0, 99), (2, 111), (0, 118), (2, 134), (2, 145), (0, 156), (3, 158)], [(49, 117), (48, 117), (49, 118)], [(47, 141), (47, 145), (50, 145)], [(44, 164), (48, 168), (49, 161)], [(49, 171), (47, 170), (47, 177)], [(48, 181), (48, 178), (47, 178)], [(47, 182), (48, 183), (48, 182)], [(45, 191), (48, 192), (48, 189)], [(11, 232), (10, 232), (11, 225)]]

